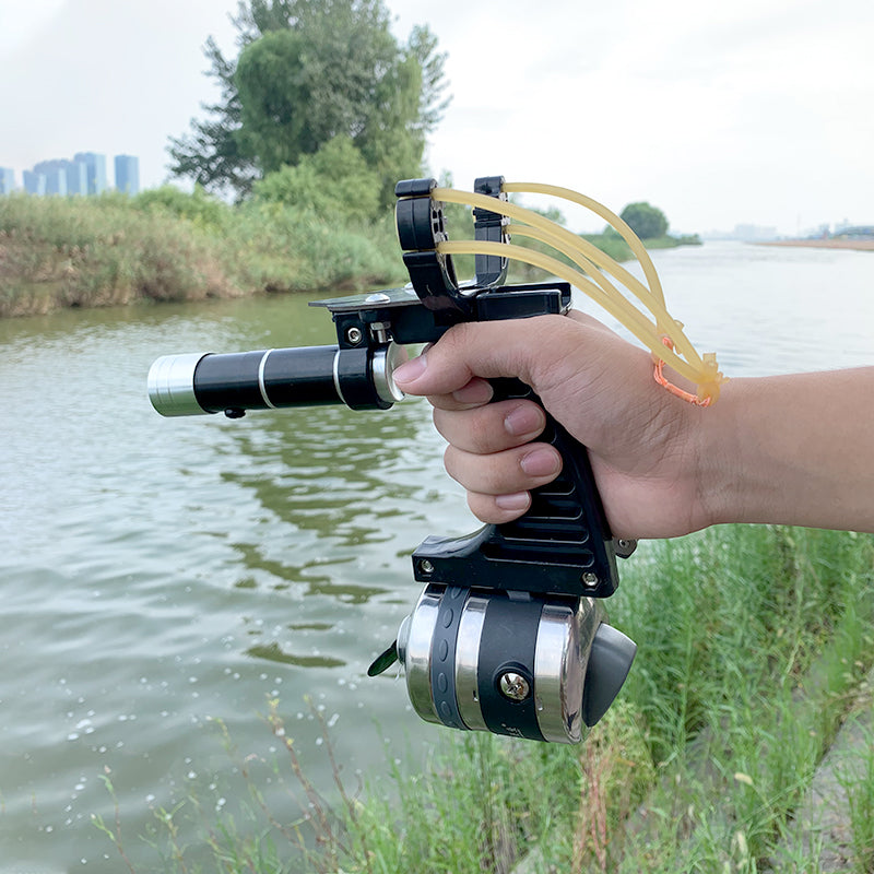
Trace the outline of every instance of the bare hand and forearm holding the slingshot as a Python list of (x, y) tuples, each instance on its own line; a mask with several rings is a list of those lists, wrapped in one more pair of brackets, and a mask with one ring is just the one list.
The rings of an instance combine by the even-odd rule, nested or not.
[(394, 379), (433, 404), (446, 469), (484, 522), (524, 513), (562, 468), (536, 439), (539, 405), (489, 403), (495, 377), (531, 386), (588, 447), (615, 536), (722, 522), (874, 532), (874, 367), (731, 379), (702, 409), (654, 382), (648, 352), (581, 314), (457, 326)]

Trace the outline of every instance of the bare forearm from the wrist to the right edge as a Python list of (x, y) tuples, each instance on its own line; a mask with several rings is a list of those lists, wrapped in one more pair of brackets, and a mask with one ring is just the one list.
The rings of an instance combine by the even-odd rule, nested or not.
[(711, 522), (874, 532), (874, 367), (733, 379), (700, 412)]

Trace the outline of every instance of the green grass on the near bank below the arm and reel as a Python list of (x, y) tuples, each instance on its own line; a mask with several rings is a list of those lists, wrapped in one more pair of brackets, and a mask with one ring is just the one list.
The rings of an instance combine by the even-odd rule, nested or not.
[[(328, 803), (274, 702), (284, 756), (262, 764), (303, 798), (271, 810), (244, 769), (245, 815), (197, 799), (162, 813), (162, 870), (196, 870), (174, 836), (200, 811), (210, 871), (817, 871), (815, 841), (787, 837), (874, 659), (872, 568), (874, 539), (847, 532), (727, 527), (645, 544), (609, 604), (638, 657), (582, 745), (447, 731), (424, 766), (389, 759), (389, 777), (352, 793), (338, 777)], [(870, 749), (846, 812), (860, 871), (874, 852)]]

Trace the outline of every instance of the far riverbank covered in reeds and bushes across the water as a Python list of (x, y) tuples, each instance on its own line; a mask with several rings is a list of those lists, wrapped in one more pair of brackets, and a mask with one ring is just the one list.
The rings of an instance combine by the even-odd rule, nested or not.
[[(472, 235), (469, 215), (453, 220), (460, 237)], [(587, 239), (616, 261), (633, 257), (618, 234)], [(698, 243), (663, 237), (646, 245)], [(470, 256), (458, 259), (461, 275), (472, 265)], [(532, 281), (542, 273), (513, 263), (510, 276)], [(0, 317), (143, 300), (354, 292), (406, 281), (390, 212), (370, 223), (328, 221), (276, 203), (229, 205), (169, 187), (134, 198), (0, 198)]]

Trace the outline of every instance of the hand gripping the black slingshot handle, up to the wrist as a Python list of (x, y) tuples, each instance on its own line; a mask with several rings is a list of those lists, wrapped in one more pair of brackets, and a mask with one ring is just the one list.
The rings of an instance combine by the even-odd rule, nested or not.
[(557, 450), (536, 441), (538, 404), (489, 403), (496, 377), (530, 386), (588, 448), (614, 536), (672, 536), (712, 521), (696, 440), (708, 412), (657, 386), (649, 353), (579, 312), (459, 324), (394, 373), (402, 391), (434, 405), (446, 469), (482, 521), (524, 513), (530, 489), (562, 468)]

